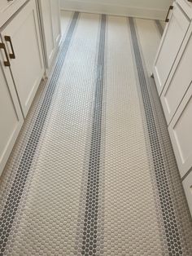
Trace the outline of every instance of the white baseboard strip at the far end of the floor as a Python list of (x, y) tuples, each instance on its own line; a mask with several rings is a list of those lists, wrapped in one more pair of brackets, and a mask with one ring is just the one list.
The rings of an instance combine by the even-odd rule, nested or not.
[(84, 0), (61, 0), (61, 10), (103, 13), (107, 15), (123, 15), (144, 19), (164, 20), (167, 10), (119, 6), (103, 2), (88, 2)]

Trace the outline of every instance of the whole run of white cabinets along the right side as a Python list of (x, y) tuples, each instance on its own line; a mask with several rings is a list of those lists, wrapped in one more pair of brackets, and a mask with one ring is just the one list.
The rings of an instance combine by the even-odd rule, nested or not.
[(176, 0), (153, 74), (192, 214), (192, 2)]

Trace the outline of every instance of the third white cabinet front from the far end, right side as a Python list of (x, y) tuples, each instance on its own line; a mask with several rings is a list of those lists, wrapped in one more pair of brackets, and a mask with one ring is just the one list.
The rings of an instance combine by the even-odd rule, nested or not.
[(192, 84), (168, 126), (177, 165), (183, 177), (192, 167)]

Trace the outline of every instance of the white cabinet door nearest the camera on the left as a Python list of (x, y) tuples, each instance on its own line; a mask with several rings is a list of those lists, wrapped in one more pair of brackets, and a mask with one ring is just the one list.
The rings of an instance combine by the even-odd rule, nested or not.
[[(0, 63), (3, 64), (2, 53), (0, 53)], [(15, 87), (11, 78), (9, 68), (6, 75), (2, 71), (0, 64), (0, 175), (6, 165), (11, 149), (15, 143), (20, 128), (23, 124), (23, 116), (20, 104), (17, 99)]]

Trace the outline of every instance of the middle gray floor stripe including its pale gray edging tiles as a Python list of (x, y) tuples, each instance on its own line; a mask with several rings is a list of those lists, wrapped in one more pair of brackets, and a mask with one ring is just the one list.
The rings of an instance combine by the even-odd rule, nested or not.
[[(79, 225), (76, 229), (75, 255), (96, 255), (101, 250), (103, 226), (103, 122), (105, 116), (104, 62), (107, 16), (99, 15), (98, 38), (95, 55), (93, 105), (85, 152), (85, 168), (81, 177), (81, 204)], [(77, 226), (79, 226), (77, 225)], [(99, 251), (98, 251), (99, 248)]]

